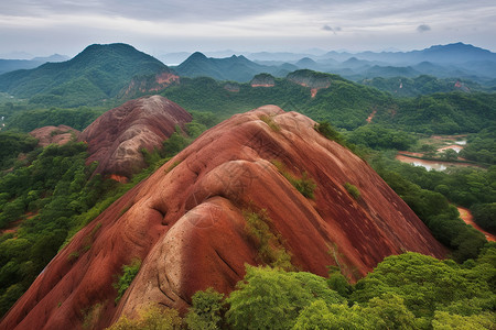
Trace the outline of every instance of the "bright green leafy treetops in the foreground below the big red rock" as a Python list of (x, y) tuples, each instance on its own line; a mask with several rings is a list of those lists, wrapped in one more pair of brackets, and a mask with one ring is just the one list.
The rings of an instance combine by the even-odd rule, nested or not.
[[(245, 278), (230, 295), (212, 288), (197, 292), (182, 327), (444, 330), (493, 329), (496, 322), (494, 244), (463, 265), (412, 252), (388, 256), (355, 285), (338, 270), (332, 272), (334, 275), (324, 278), (247, 265)], [(335, 273), (345, 282), (345, 295), (333, 286)], [(164, 309), (163, 316), (170, 316), (170, 310)], [(116, 326), (123, 322), (130, 321), (122, 317)], [(138, 329), (116, 326), (111, 329)], [(164, 326), (180, 329), (181, 319)]]

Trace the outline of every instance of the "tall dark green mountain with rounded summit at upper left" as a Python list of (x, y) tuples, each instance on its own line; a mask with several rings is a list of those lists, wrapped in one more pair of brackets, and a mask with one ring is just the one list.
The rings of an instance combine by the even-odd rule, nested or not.
[(90, 45), (67, 62), (0, 76), (0, 91), (31, 102), (84, 106), (116, 97), (136, 76), (171, 73), (159, 59), (127, 44)]

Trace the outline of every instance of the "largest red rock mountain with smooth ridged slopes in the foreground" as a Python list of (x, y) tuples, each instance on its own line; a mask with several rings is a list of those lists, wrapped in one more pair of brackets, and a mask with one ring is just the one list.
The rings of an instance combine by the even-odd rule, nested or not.
[[(248, 206), (267, 210), (295, 267), (319, 275), (338, 263), (356, 280), (402, 251), (443, 257), (445, 249), (382, 179), (314, 124), (266, 106), (205, 132), (78, 232), (0, 328), (77, 329), (85, 310), (104, 328), (150, 301), (184, 311), (196, 290), (229, 293), (244, 264), (259, 260), (246, 232)], [(306, 172), (315, 198), (303, 197), (274, 160), (294, 176)], [(359, 189), (358, 200), (345, 183)], [(112, 282), (133, 257), (141, 270), (115, 306)]]

